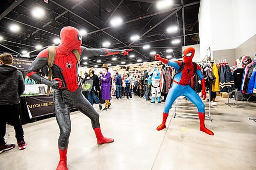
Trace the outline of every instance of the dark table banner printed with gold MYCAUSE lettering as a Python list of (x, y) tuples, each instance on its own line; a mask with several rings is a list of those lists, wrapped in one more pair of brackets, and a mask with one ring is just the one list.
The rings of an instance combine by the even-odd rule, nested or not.
[(26, 102), (32, 117), (39, 117), (54, 113), (53, 95), (26, 96)]

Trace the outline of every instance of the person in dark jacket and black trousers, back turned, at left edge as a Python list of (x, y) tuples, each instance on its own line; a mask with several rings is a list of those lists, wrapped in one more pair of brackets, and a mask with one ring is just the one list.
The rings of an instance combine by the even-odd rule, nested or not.
[(11, 54), (0, 55), (0, 153), (15, 147), (15, 144), (6, 144), (5, 133), (6, 123), (12, 123), (15, 130), (15, 137), (19, 150), (26, 148), (24, 132), (19, 119), (19, 96), (25, 90), (22, 72), (12, 66), (13, 57)]

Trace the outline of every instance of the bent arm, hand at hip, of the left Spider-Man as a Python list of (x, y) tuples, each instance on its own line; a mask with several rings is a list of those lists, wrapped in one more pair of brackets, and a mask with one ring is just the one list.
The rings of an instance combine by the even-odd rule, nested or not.
[(54, 79), (54, 80), (50, 81), (50, 80), (47, 80), (47, 79), (41, 77), (38, 74), (38, 71), (47, 65), (47, 56), (48, 56), (47, 49), (41, 51), (38, 54), (38, 56), (36, 57), (36, 59), (30, 65), (30, 67), (27, 71), (27, 75), (28, 75), (28, 77), (31, 77), (32, 79), (34, 79), (36, 82), (46, 84), (47, 86), (50, 86), (55, 89), (60, 88), (62, 85), (62, 83), (61, 83), (62, 80)]

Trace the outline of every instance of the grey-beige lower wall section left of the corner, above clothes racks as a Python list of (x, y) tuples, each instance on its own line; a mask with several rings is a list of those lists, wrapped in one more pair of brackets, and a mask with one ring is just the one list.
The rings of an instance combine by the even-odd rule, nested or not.
[(213, 51), (213, 58), (216, 60), (215, 62), (217, 63), (217, 60), (219, 59), (226, 59), (226, 62), (230, 66), (234, 66), (234, 61), (236, 60), (236, 51), (235, 49), (228, 49), (228, 50), (218, 50), (218, 51)]

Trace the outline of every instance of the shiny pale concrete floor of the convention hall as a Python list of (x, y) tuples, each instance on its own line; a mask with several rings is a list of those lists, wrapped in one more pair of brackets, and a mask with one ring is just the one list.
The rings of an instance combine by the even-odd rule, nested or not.
[[(90, 119), (80, 112), (71, 115), (72, 132), (68, 149), (68, 168), (80, 169), (256, 169), (256, 104), (229, 108), (218, 97), (212, 107), (213, 122), (206, 127), (215, 136), (199, 131), (198, 119), (174, 118), (170, 110), (168, 129), (157, 131), (162, 120), (162, 104), (151, 104), (135, 97), (132, 101), (113, 100), (107, 112), (99, 111), (101, 129), (114, 143), (97, 145)], [(178, 101), (186, 102), (182, 99)], [(177, 106), (177, 107), (180, 107)], [(179, 112), (197, 114), (187, 105)], [(207, 104), (206, 104), (207, 106)], [(98, 106), (95, 106), (98, 110)], [(208, 108), (206, 112), (208, 112)], [(0, 154), (0, 169), (56, 169), (58, 164), (58, 126), (55, 118), (24, 126), (27, 149)], [(13, 127), (7, 127), (8, 143), (15, 142)]]

